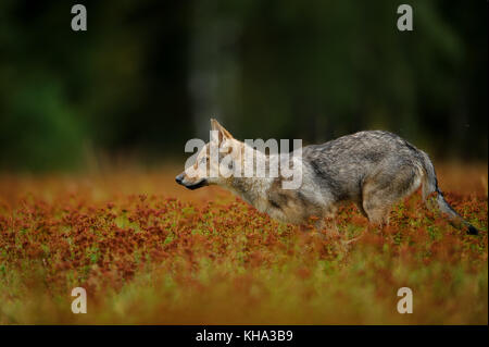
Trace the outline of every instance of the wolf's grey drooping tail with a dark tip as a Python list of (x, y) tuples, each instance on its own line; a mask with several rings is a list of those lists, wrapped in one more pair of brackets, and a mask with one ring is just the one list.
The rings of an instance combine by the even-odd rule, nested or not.
[(471, 223), (465, 221), (447, 202), (447, 200), (443, 197), (443, 193), (438, 187), (438, 179), (437, 179), (437, 175), (435, 173), (435, 168), (434, 168), (434, 165), (431, 163), (431, 160), (429, 160), (428, 154), (426, 154), (424, 151), (419, 150), (419, 152), (422, 153), (422, 157), (423, 157), (422, 158), (422, 163), (423, 163), (423, 168), (424, 168), (424, 171), (425, 171), (424, 183), (423, 183), (423, 199), (426, 201), (427, 197), (431, 193), (436, 191), (437, 193), (438, 208), (440, 209), (440, 211), (443, 212), (443, 213), (447, 213), (450, 216), (450, 219), (452, 221), (456, 222), (457, 224), (463, 224), (467, 228), (467, 234), (469, 234), (469, 235), (478, 235), (479, 231), (474, 225), (472, 225)]

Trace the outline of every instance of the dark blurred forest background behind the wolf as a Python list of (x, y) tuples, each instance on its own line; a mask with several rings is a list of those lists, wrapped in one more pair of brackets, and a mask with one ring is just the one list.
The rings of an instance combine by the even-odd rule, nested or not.
[(486, 1), (1, 0), (0, 168), (164, 161), (211, 116), (241, 139), (383, 128), (486, 161), (487, 49)]

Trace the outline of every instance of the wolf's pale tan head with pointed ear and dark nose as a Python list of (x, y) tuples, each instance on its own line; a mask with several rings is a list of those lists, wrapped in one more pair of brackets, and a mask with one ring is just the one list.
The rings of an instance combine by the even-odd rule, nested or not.
[(211, 119), (211, 140), (197, 153), (193, 163), (187, 163), (175, 181), (189, 189), (212, 184), (225, 186), (236, 168), (241, 165), (242, 148), (243, 142)]

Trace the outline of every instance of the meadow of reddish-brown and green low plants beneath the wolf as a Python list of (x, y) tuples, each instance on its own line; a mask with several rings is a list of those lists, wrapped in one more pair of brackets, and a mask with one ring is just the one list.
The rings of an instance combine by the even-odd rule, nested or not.
[(488, 324), (487, 163), (436, 168), (479, 236), (419, 194), (385, 228), (346, 206), (339, 231), (362, 236), (344, 248), (221, 188), (186, 190), (179, 166), (1, 174), (0, 324)]

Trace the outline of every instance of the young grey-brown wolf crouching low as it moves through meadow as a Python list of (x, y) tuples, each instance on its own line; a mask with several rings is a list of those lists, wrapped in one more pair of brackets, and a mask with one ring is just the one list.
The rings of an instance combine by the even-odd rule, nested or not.
[[(277, 156), (247, 148), (249, 145), (235, 139), (214, 119), (211, 119), (211, 129), (217, 136), (197, 153), (192, 165), (197, 174), (189, 175), (186, 170), (175, 178), (189, 189), (218, 185), (281, 222), (304, 225), (315, 216), (316, 227), (321, 230), (326, 219), (334, 220), (338, 207), (344, 202), (355, 203), (371, 223), (385, 226), (392, 206), (422, 186), (424, 201), (436, 195), (438, 208), (452, 224), (465, 228), (467, 234), (478, 234), (478, 230), (464, 221), (444, 199), (428, 154), (392, 133), (363, 131), (303, 147), (300, 158), (285, 159), (300, 160), (302, 175), (297, 189), (286, 189), (283, 183), (287, 178), (281, 170), (276, 177), (209, 175), (212, 169), (218, 172), (216, 166), (224, 156), (230, 157), (230, 166), (243, 165), (244, 150), (253, 151), (254, 157), (267, 165), (273, 156)], [(213, 159), (211, 145), (226, 150)]]

